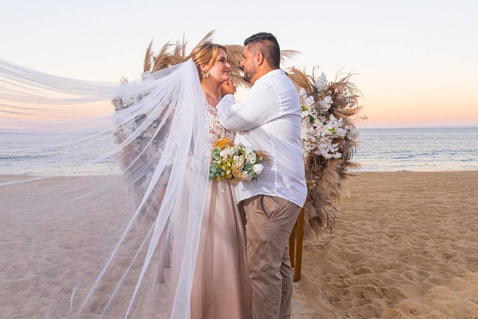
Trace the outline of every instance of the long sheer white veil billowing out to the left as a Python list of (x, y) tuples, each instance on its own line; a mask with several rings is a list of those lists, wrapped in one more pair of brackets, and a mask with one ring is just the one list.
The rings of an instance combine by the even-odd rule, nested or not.
[(0, 60), (0, 288), (23, 303), (6, 317), (190, 317), (204, 95), (191, 59), (146, 75), (83, 81)]

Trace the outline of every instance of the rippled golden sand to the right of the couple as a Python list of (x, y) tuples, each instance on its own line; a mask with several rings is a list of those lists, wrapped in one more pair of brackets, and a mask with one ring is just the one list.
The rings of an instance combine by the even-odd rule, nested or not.
[(293, 318), (477, 319), (478, 171), (363, 172), (350, 190), (304, 251)]

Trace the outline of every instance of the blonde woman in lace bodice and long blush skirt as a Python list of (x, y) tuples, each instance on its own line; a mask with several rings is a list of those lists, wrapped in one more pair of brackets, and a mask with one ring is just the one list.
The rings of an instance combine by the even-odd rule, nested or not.
[[(231, 81), (226, 48), (205, 42), (191, 55), (201, 73), (211, 144), (223, 137), (234, 141), (234, 132), (219, 123), (216, 110), (222, 84)], [(191, 296), (191, 318), (251, 318), (245, 234), (229, 180), (210, 183), (207, 198)]]

